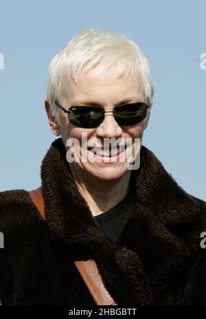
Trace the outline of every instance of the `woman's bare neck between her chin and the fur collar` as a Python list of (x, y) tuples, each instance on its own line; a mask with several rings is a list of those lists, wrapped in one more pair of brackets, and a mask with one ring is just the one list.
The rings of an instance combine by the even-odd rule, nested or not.
[(77, 175), (72, 168), (71, 173), (93, 216), (98, 216), (116, 206), (130, 190), (131, 170), (127, 170), (119, 179), (107, 181), (95, 177), (88, 179), (81, 176), (80, 178), (80, 175)]

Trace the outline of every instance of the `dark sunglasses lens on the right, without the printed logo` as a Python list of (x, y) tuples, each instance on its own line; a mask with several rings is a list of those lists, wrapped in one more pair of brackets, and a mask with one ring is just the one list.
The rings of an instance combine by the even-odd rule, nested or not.
[(148, 106), (143, 102), (115, 107), (115, 120), (120, 125), (138, 124), (146, 118)]

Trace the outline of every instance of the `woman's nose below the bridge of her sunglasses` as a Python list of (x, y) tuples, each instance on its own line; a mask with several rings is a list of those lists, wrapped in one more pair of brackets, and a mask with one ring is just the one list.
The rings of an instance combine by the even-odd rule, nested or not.
[(116, 122), (113, 113), (105, 113), (103, 122), (97, 127), (100, 137), (117, 138), (122, 134), (122, 127)]

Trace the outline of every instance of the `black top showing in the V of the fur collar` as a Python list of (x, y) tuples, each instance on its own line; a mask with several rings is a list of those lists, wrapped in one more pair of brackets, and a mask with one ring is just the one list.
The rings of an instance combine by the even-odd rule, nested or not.
[(106, 239), (116, 243), (124, 222), (133, 210), (134, 204), (135, 192), (131, 190), (116, 206), (94, 217)]

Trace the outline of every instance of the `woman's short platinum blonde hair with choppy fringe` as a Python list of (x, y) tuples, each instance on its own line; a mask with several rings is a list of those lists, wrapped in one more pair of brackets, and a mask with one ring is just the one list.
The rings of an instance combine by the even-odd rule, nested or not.
[(119, 77), (127, 72), (139, 72), (143, 81), (145, 102), (152, 106), (154, 89), (150, 67), (138, 45), (117, 32), (87, 29), (67, 42), (49, 66), (47, 100), (57, 121), (60, 109), (54, 101), (57, 99), (62, 102), (67, 76), (70, 74), (73, 81), (78, 83), (83, 67), (85, 72), (89, 72), (103, 61), (105, 70), (117, 65)]

